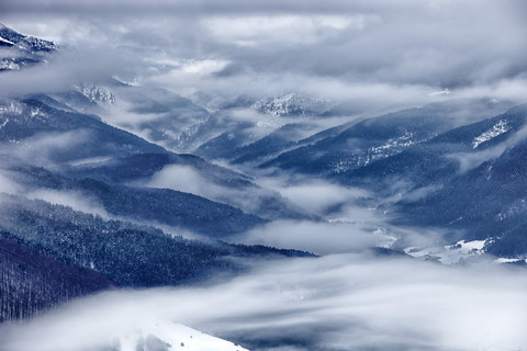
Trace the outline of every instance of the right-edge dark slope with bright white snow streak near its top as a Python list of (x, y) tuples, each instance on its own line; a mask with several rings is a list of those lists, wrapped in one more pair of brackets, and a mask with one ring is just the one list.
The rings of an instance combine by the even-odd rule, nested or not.
[[(392, 157), (341, 172), (336, 178), (345, 183), (373, 188), (390, 188), (390, 183), (395, 185), (402, 180), (406, 189), (442, 184), (459, 171), (479, 166), (479, 160), (481, 163), (506, 147), (507, 144), (503, 143), (515, 136), (525, 121), (525, 106), (514, 107), (492, 118), (452, 128)], [(497, 147), (494, 152), (493, 147)]]

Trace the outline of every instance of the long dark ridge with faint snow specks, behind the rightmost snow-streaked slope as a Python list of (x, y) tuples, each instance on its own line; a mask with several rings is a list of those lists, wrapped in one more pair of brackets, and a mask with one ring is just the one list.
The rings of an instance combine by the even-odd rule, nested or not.
[(504, 105), (489, 101), (437, 103), (332, 127), (259, 167), (323, 177), (346, 173), (456, 127), (467, 114), (482, 118), (503, 111)]

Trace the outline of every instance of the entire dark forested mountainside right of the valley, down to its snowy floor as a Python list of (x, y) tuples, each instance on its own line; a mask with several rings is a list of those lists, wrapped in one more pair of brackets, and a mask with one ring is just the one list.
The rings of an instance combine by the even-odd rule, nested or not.
[[(524, 171), (527, 105), (515, 106), (480, 122), (448, 127), (437, 135), (429, 133), (421, 141), (401, 148), (393, 144), (381, 157), (370, 158), (368, 162), (368, 159), (361, 159), (362, 155), (372, 155), (363, 150), (371, 150), (368, 143), (379, 143), (380, 135), (385, 139), (402, 133), (397, 128), (408, 131), (408, 124), (401, 123), (404, 120), (392, 121), (396, 124), (386, 125), (388, 134), (384, 135), (380, 134), (383, 131), (380, 127), (374, 128), (379, 133), (368, 134), (365, 123), (345, 131), (344, 139), (348, 141), (350, 134), (356, 138), (357, 135), (368, 137), (365, 141), (362, 138), (356, 141), (366, 143), (366, 147), (356, 148), (356, 154), (350, 152), (351, 159), (362, 162), (357, 161), (338, 171), (322, 168), (321, 158), (312, 163), (295, 161), (285, 165), (303, 172), (323, 174), (340, 184), (368, 189), (371, 192), (371, 199), (367, 200), (369, 205), (386, 213), (393, 225), (446, 231), (445, 239), (453, 245), (447, 250), (463, 249), (469, 241), (474, 245), (478, 241), (481, 242), (478, 244), (480, 253), (525, 258), (527, 207), (523, 189), (527, 186)], [(429, 131), (426, 123), (413, 126)], [(337, 138), (323, 139), (313, 147), (333, 148), (336, 152), (330, 141), (343, 146), (341, 138), (343, 134), (338, 134)], [(410, 250), (404, 238), (394, 248)]]

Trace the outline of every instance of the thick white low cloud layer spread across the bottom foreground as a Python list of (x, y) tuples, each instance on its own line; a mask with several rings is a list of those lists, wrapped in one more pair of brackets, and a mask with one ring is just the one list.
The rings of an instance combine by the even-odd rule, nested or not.
[[(110, 292), (3, 326), (9, 350), (87, 350), (167, 320), (253, 350), (512, 350), (527, 276), (363, 254), (280, 260), (206, 288)], [(260, 344), (261, 347), (258, 347)]]

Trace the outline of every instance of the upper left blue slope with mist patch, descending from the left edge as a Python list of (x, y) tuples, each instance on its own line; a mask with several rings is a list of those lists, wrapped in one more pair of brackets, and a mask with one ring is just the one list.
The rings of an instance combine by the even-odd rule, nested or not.
[(0, 105), (0, 143), (33, 157), (64, 163), (85, 158), (139, 152), (166, 154), (161, 147), (102, 123), (94, 115), (67, 112), (36, 99), (4, 100)]

